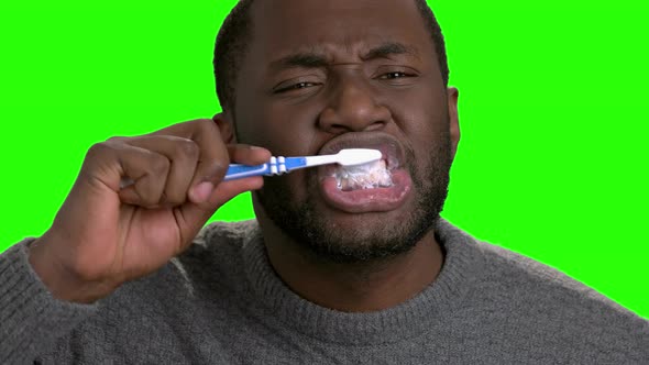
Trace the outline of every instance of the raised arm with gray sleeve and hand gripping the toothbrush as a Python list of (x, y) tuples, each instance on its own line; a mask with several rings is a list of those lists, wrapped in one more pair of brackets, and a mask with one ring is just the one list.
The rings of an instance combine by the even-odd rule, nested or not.
[(222, 181), (230, 162), (256, 165), (271, 153), (229, 144), (218, 125), (196, 120), (88, 151), (52, 226), (0, 256), (0, 364), (52, 349), (98, 300), (156, 272), (218, 208), (263, 185), (258, 176)]

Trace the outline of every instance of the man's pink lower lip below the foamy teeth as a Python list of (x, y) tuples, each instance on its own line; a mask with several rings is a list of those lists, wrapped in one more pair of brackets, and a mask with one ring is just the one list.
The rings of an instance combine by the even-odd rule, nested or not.
[(413, 187), (405, 169), (392, 172), (392, 181), (388, 188), (342, 191), (334, 177), (326, 177), (320, 182), (320, 191), (329, 206), (348, 213), (385, 212), (399, 208)]

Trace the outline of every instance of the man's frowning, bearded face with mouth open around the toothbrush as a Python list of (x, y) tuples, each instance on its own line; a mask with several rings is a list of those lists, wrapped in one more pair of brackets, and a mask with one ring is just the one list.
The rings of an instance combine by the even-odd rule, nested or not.
[(336, 165), (270, 177), (255, 197), (260, 221), (334, 261), (407, 251), (439, 215), (459, 137), (457, 93), (447, 93), (414, 1), (253, 8), (235, 85), (239, 142), (279, 156), (377, 148), (392, 180), (362, 189)]

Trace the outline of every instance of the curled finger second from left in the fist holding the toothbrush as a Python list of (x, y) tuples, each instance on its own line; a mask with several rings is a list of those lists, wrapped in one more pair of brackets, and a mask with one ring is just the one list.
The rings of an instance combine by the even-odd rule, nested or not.
[(194, 141), (173, 135), (145, 135), (129, 139), (124, 143), (156, 152), (169, 159), (169, 173), (161, 204), (175, 207), (187, 200), (200, 153)]

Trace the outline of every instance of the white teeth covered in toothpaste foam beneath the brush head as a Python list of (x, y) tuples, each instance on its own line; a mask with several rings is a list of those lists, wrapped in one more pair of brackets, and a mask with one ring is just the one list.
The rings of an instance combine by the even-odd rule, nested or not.
[(393, 186), (392, 174), (384, 159), (358, 166), (340, 166), (333, 177), (338, 188), (344, 191)]

